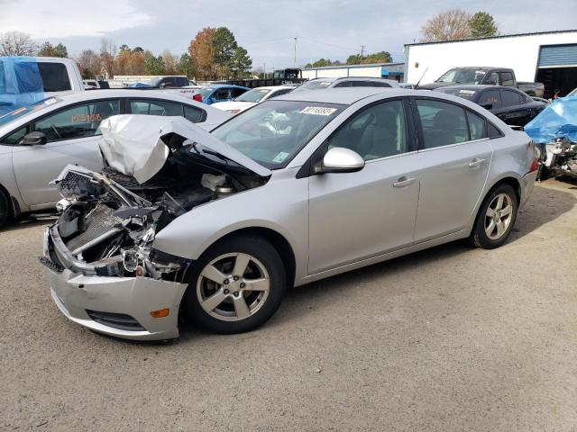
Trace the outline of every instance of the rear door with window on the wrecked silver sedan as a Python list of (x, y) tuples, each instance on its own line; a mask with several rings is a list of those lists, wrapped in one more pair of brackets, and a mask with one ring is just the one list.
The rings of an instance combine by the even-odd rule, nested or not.
[(415, 241), (463, 229), (472, 218), (489, 173), (492, 149), (486, 121), (457, 103), (415, 99), (420, 127)]

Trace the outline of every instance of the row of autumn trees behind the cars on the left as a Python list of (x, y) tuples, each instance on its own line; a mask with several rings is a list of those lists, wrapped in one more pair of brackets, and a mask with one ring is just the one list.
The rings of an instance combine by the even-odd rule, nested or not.
[[(62, 43), (46, 41), (36, 45), (21, 31), (0, 35), (0, 56), (39, 56), (68, 58), (68, 49)], [(186, 75), (197, 79), (243, 78), (250, 75), (252, 58), (226, 27), (206, 27), (190, 40), (188, 51), (175, 55), (164, 50), (155, 55), (140, 46), (118, 47), (113, 40), (103, 38), (100, 49), (84, 49), (72, 57), (78, 63), (83, 78), (115, 75)]]

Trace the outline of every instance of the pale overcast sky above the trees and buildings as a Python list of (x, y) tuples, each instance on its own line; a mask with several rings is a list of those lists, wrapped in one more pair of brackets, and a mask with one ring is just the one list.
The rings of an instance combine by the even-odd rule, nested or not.
[(403, 61), (403, 45), (419, 39), (431, 15), (451, 7), (489, 12), (501, 34), (577, 28), (577, 0), (0, 0), (0, 32), (24, 31), (41, 43), (64, 43), (69, 55), (98, 49), (102, 37), (117, 45), (181, 54), (203, 27), (228, 27), (248, 49), (253, 67), (267, 70), (318, 58), (344, 60), (388, 50)]

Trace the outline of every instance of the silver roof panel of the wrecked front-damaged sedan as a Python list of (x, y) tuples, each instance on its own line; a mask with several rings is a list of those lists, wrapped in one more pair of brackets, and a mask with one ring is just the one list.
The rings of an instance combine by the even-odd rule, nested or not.
[(275, 97), (274, 101), (303, 101), (318, 103), (342, 103), (352, 105), (365, 97), (373, 94), (387, 94), (389, 97), (398, 96), (431, 96), (430, 90), (408, 90), (406, 88), (387, 88), (387, 87), (343, 87), (343, 88), (325, 88), (322, 90), (303, 90), (297, 93), (282, 94)]

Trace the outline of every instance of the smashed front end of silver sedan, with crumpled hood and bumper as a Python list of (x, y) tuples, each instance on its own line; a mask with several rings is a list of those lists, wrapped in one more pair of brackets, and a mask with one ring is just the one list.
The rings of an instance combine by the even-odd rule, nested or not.
[(123, 152), (139, 151), (114, 132), (101, 144), (102, 173), (80, 166), (62, 171), (55, 180), (63, 198), (60, 218), (46, 229), (40, 258), (60, 311), (120, 338), (179, 336), (179, 303), (191, 262), (153, 247), (160, 230), (198, 205), (268, 181), (173, 128), (154, 133), (155, 149), (147, 155), (140, 148), (136, 164), (107, 154), (106, 139)]

